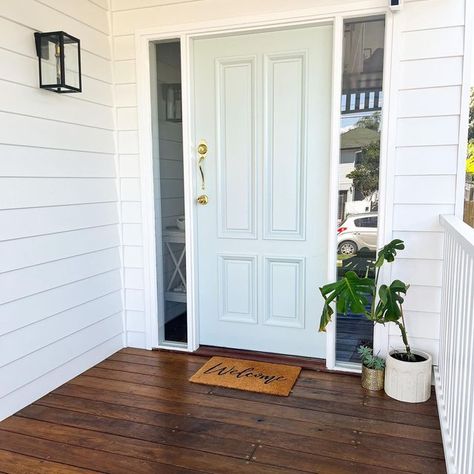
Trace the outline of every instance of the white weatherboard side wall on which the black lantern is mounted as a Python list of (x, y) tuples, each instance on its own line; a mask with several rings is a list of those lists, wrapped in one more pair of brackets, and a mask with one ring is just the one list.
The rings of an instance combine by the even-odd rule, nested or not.
[[(0, 4), (0, 419), (123, 346), (107, 8)], [(55, 30), (81, 39), (82, 94), (38, 88)]]

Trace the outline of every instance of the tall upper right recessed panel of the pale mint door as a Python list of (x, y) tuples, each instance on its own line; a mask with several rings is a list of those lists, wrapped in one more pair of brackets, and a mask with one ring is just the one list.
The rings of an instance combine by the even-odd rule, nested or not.
[(304, 239), (306, 53), (268, 55), (264, 62), (265, 238)]

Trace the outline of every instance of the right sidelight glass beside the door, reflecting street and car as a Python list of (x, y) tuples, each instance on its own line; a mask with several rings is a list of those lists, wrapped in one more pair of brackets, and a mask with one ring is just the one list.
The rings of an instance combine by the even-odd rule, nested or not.
[[(377, 250), (383, 18), (345, 21), (341, 96), (341, 148), (337, 274), (373, 276)], [(373, 325), (365, 316), (337, 315), (336, 359), (360, 362), (359, 345), (371, 346)]]

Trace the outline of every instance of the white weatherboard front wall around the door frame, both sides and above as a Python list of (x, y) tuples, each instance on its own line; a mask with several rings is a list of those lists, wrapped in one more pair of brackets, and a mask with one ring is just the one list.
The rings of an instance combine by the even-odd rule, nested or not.
[[(442, 230), (439, 214), (452, 214), (456, 198), (459, 114), (463, 55), (463, 0), (407, 0), (394, 15), (392, 70), (387, 82), (392, 96), (387, 124), (388, 170), (385, 210), (387, 240), (399, 237), (407, 250), (392, 267), (392, 276), (412, 284), (406, 300), (413, 346), (437, 353), (441, 298)], [(274, 15), (284, 10), (338, 11), (349, 6), (385, 7), (374, 0), (111, 0), (116, 92), (119, 109), (120, 176), (122, 189), (139, 188), (139, 150), (136, 121), (136, 30), (186, 23)], [(126, 145), (126, 146), (125, 146)], [(460, 159), (464, 159), (463, 157)], [(145, 320), (142, 270), (142, 226), (139, 196), (134, 212), (124, 215), (129, 343), (144, 347)], [(393, 232), (392, 232), (393, 230)], [(390, 331), (390, 345), (399, 343)], [(131, 335), (131, 336), (130, 336)]]

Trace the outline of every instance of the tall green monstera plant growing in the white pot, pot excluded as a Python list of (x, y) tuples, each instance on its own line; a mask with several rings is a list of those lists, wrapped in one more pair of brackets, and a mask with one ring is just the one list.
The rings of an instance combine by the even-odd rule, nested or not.
[(364, 314), (374, 323), (395, 323), (400, 329), (405, 353), (399, 354), (400, 359), (415, 361), (410, 345), (403, 316), (402, 304), (409, 285), (400, 280), (394, 280), (390, 285), (379, 286), (380, 270), (385, 262), (393, 262), (397, 251), (403, 250), (405, 244), (395, 239), (383, 247), (375, 261), (375, 277), (369, 278), (369, 268), (366, 276), (360, 277), (353, 271), (348, 271), (340, 280), (320, 288), (324, 298), (323, 312), (319, 325), (320, 331), (325, 331), (334, 313), (335, 303), (339, 314)]

